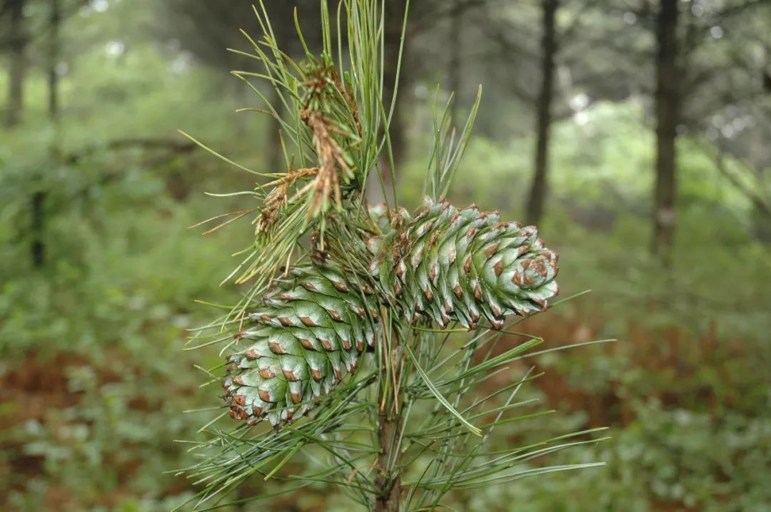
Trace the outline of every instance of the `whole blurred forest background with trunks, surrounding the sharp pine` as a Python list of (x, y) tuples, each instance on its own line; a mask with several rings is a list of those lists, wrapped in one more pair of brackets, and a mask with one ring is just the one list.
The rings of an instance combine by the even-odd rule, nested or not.
[[(300, 51), (295, 3), (318, 41), (318, 2), (265, 3), (284, 48)], [(405, 3), (386, 3), (387, 78)], [(169, 472), (190, 463), (175, 440), (205, 421), (183, 410), (218, 399), (183, 342), (210, 320), (194, 300), (237, 294), (217, 283), (251, 228), (187, 226), (251, 206), (204, 192), (254, 176), (177, 129), (285, 170), (274, 122), (235, 112), (262, 106), (229, 74), (258, 71), (227, 52), (249, 49), (240, 28), (259, 32), (247, 0), (0, 0), (3, 510), (169, 510), (195, 491)], [(510, 437), (608, 426), (611, 441), (549, 460), (607, 465), (459, 492), (461, 510), (768, 510), (771, 2), (417, 0), (406, 35), (404, 206), (421, 200), (434, 103), (455, 91), (462, 119), (483, 84), (450, 199), (537, 223), (564, 296), (591, 289), (525, 330), (619, 340), (528, 361), (546, 372), (528, 396), (557, 412)], [(323, 486), (271, 500), (349, 507)]]

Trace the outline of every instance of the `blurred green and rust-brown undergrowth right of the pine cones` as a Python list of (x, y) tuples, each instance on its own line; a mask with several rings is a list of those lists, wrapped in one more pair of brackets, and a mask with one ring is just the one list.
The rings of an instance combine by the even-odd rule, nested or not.
[[(592, 424), (576, 408), (601, 401), (613, 441), (566, 458), (588, 461), (597, 453), (608, 467), (493, 488), (466, 507), (507, 510), (501, 504), (525, 502), (532, 510), (658, 510), (664, 504), (763, 510), (769, 498), (757, 478), (771, 472), (763, 455), (771, 413), (765, 370), (771, 319), (764, 306), (771, 300), (771, 266), (768, 247), (752, 234), (756, 212), (702, 143), (683, 138), (678, 234), (672, 268), (662, 271), (644, 251), (652, 133), (642, 125), (639, 105), (599, 104), (587, 114), (586, 124), (569, 119), (555, 126), (554, 196), (540, 227), (556, 240), (564, 293), (592, 293), (553, 313), (564, 331), (540, 323), (536, 332), (557, 346), (587, 335), (618, 336), (619, 342), (609, 352), (584, 349), (540, 359), (544, 379), (560, 376), (570, 389), (552, 403), (574, 411), (550, 417), (541, 428), (557, 433)], [(516, 216), (530, 143), (473, 139), (457, 175), (458, 196), (492, 201), (502, 216)], [(409, 166), (413, 181), (422, 163)], [(499, 185), (504, 180), (511, 184), (506, 193)], [(402, 196), (416, 202), (409, 192), (405, 187)], [(744, 284), (722, 288), (717, 275), (720, 283)], [(597, 296), (604, 300), (590, 309), (586, 302)], [(571, 394), (585, 401), (571, 405), (577, 400)], [(554, 463), (561, 460), (554, 455)]]

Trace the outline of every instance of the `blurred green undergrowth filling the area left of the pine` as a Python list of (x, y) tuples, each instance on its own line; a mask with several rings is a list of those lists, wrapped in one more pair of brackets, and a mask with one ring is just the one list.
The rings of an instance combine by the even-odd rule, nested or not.
[[(174, 440), (194, 438), (198, 427), (181, 413), (195, 407), (200, 382), (180, 340), (204, 320), (191, 298), (224, 295), (192, 276), (217, 276), (231, 259), (186, 229), (212, 210), (210, 199), (187, 197), (187, 181), (217, 189), (237, 179), (213, 176), (170, 138), (185, 118), (224, 138), (227, 119), (210, 122), (210, 112), (230, 100), (211, 99), (204, 70), (175, 68), (156, 45), (125, 57), (103, 44), (79, 53), (77, 72), (62, 79), (66, 115), (57, 126), (43, 120), (44, 82), (33, 70), (25, 125), (2, 133), (0, 501), (8, 510), (169, 510), (189, 493), (165, 474), (190, 462)], [(29, 201), (38, 191), (42, 269), (30, 258)]]

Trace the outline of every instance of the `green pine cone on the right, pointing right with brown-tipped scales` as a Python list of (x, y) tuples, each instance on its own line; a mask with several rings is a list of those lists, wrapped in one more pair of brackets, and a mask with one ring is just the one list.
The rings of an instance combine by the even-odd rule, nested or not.
[[(383, 224), (382, 209), (373, 209)], [(369, 268), (383, 296), (409, 322), (428, 317), (476, 329), (480, 318), (503, 327), (507, 315), (543, 311), (557, 295), (557, 253), (534, 226), (500, 222), (476, 206), (458, 210), (426, 198), (415, 216), (392, 212), (385, 234), (369, 239)]]

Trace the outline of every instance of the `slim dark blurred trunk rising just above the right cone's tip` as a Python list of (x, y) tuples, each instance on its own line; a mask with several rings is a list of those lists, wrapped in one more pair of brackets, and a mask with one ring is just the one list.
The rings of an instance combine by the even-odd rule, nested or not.
[(542, 13), (540, 91), (536, 105), (536, 148), (533, 183), (527, 199), (527, 223), (540, 222), (544, 215), (549, 166), (549, 129), (551, 124), (551, 102), (554, 98), (554, 55), (557, 53), (557, 31), (554, 19), (557, 17), (557, 0), (544, 0)]

